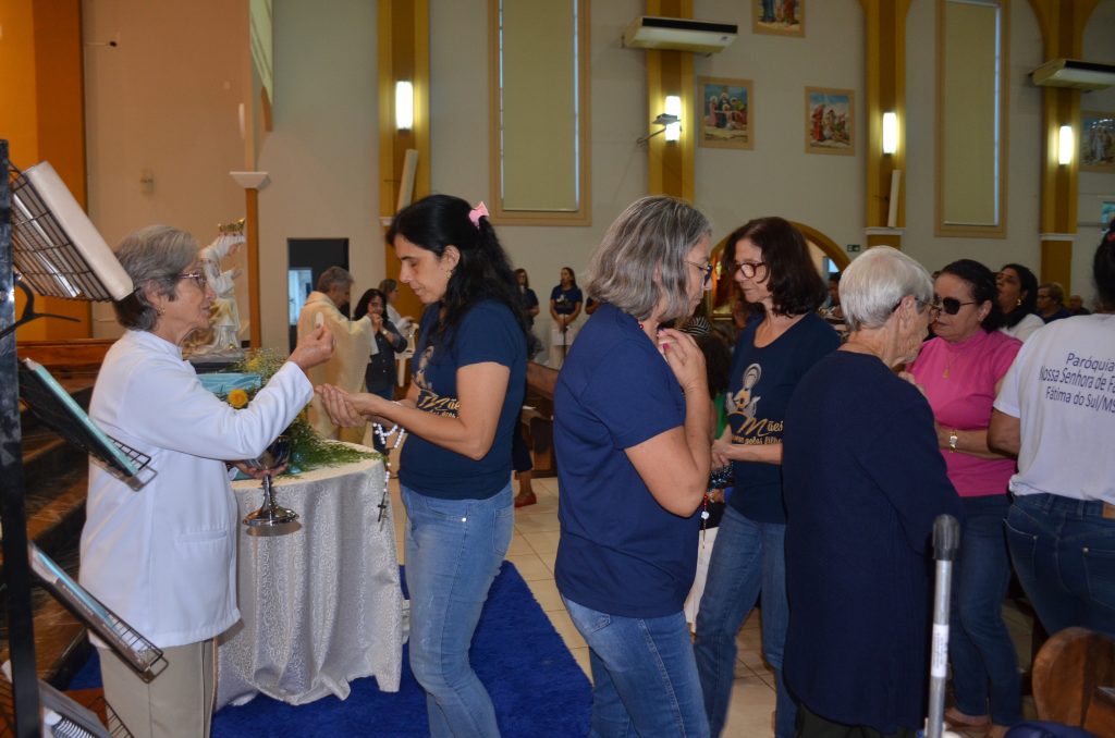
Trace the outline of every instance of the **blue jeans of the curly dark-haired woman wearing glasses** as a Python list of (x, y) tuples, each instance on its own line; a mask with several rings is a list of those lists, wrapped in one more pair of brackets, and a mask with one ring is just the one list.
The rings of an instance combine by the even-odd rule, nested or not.
[[(738, 492), (736, 494), (739, 494)], [(736, 669), (736, 634), (763, 592), (763, 656), (777, 680), (776, 738), (792, 738), (797, 706), (782, 678), (782, 659), (789, 624), (786, 602), (786, 526), (756, 523), (731, 505), (724, 511), (720, 532), (708, 564), (705, 596), (697, 613), (697, 671), (705, 692), (705, 711), (714, 736), (724, 730)]]

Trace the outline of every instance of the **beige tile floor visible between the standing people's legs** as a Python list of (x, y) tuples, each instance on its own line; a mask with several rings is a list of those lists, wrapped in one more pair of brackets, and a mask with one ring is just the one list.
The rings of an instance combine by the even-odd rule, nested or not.
[[(395, 460), (395, 459), (392, 459)], [(398, 468), (397, 463), (392, 468)], [(515, 511), (515, 533), (507, 550), (507, 561), (526, 581), (542, 610), (550, 616), (554, 630), (561, 634), (569, 650), (573, 653), (585, 674), (591, 679), (589, 668), (589, 647), (578, 633), (576, 628), (565, 612), (558, 588), (554, 584), (554, 559), (558, 554), (558, 479), (556, 477), (534, 479), (534, 493), (537, 504), (521, 507)], [(517, 484), (514, 485), (517, 491)], [(406, 511), (399, 502), (398, 482), (390, 484), (392, 508), (396, 519), (396, 543), (399, 551), (399, 562), (404, 562), (403, 525)], [(1021, 667), (1029, 666), (1030, 659), (1030, 625), (1029, 619), (1009, 605), (1004, 610), (1011, 635), (1018, 647)], [(757, 612), (744, 623), (736, 639), (738, 656), (736, 660), (736, 684), (731, 692), (728, 707), (728, 721), (724, 729), (725, 738), (763, 738), (773, 736), (773, 717), (775, 705), (774, 673), (763, 661)], [(1026, 700), (1027, 715), (1032, 717), (1032, 700)], [(962, 732), (976, 738), (982, 734)]]

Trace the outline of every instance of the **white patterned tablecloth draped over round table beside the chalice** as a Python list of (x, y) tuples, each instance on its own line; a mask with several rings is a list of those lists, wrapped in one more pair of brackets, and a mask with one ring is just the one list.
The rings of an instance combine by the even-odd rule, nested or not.
[[(260, 482), (233, 489), (241, 515), (260, 506)], [(221, 638), (216, 707), (260, 692), (291, 705), (345, 699), (349, 681), (368, 676), (398, 691), (403, 594), (382, 463), (280, 477), (274, 494), (300, 517), (275, 530), (241, 527), (243, 620)]]

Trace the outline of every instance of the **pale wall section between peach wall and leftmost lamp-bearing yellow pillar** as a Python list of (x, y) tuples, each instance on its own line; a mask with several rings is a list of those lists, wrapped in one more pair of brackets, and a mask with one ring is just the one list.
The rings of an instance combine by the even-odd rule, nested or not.
[[(285, 349), (287, 239), (349, 240), (353, 301), (384, 279), (376, 4), (274, 3), (274, 129), (260, 146), (263, 344)], [(355, 304), (355, 302), (353, 302)]]

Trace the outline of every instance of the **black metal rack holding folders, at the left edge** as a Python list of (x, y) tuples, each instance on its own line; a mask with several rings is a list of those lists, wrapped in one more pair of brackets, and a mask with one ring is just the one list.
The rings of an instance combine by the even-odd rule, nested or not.
[[(54, 175), (49, 165), (43, 168)], [(9, 169), (14, 176), (9, 177)], [(51, 188), (65, 191), (61, 181), (54, 176)], [(18, 360), (14, 329), (48, 315), (35, 311), (35, 293), (17, 279), (17, 271), (27, 272), (25, 276), (39, 293), (69, 299), (105, 300), (112, 299), (114, 292), (119, 298), (122, 291), (126, 293), (129, 289), (122, 284), (130, 284), (99, 234), (95, 234), (88, 219), (79, 213), (69, 193), (65, 192), (61, 200), (54, 195), (51, 202), (56, 203), (56, 207), (68, 211), (65, 215), (69, 226), (84, 231), (81, 235), (85, 237), (80, 243), (75, 243), (72, 234), (67, 233), (67, 227), (29, 181), (10, 167), (8, 142), (0, 139), (0, 526), (3, 532), (4, 604), (11, 658), (10, 700), (6, 686), (0, 686), (3, 687), (0, 691), (4, 692), (0, 702), (10, 701), (10, 728), (17, 738), (40, 735), (40, 701), (68, 721), (69, 732), (66, 735), (125, 736), (129, 734), (118, 720), (115, 726), (109, 726), (115, 728), (110, 734), (100, 730), (99, 726), (94, 727), (96, 720), (94, 718), (89, 722), (91, 713), (88, 710), (41, 683), (36, 671), (32, 571), (39, 574), (62, 604), (93, 628), (144, 679), (154, 679), (165, 667), (159, 649), (70, 580), (57, 564), (29, 544), (27, 537), (19, 415), (21, 397), (47, 426), (119, 476), (142, 486), (139, 472), (146, 469), (148, 474), (153, 473), (147, 466), (151, 462), (148, 457), (100, 431), (49, 372), (31, 361), (21, 366)], [(76, 212), (78, 217), (75, 217)], [(89, 237), (90, 232), (95, 237)], [(16, 239), (16, 235), (19, 237)], [(91, 241), (99, 242), (91, 245), (93, 252), (89, 251)], [(106, 287), (103, 276), (114, 287)], [(27, 303), (18, 319), (14, 302), (17, 288), (27, 295)], [(108, 712), (112, 716), (112, 711)], [(85, 729), (86, 726), (88, 729)]]

